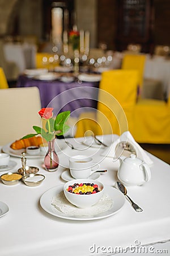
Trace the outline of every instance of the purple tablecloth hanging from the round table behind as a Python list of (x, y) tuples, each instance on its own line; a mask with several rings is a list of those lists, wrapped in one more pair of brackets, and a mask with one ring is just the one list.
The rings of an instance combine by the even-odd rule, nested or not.
[(78, 117), (90, 108), (96, 108), (99, 82), (42, 81), (19, 76), (17, 87), (36, 86), (40, 90), (41, 107), (54, 108), (54, 113), (70, 110)]

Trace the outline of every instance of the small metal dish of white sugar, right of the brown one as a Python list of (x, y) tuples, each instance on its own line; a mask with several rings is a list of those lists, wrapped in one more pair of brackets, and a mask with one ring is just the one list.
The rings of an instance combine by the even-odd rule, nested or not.
[(45, 176), (42, 174), (28, 174), (22, 177), (22, 181), (29, 187), (40, 185), (44, 179)]

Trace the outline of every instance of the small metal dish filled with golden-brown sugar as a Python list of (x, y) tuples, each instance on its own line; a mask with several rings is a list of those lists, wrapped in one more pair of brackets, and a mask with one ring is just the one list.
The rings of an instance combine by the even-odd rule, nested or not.
[(3, 184), (6, 185), (15, 185), (22, 179), (22, 175), (17, 172), (7, 172), (6, 174), (2, 174), (0, 177)]

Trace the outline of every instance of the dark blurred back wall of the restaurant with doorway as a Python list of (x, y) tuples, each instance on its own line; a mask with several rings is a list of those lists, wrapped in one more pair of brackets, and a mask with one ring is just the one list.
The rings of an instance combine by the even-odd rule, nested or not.
[(74, 25), (90, 31), (90, 47), (123, 51), (141, 44), (153, 53), (170, 44), (169, 0), (0, 0), (0, 36), (36, 42), (41, 50), (52, 37), (52, 13), (62, 10), (62, 31)]

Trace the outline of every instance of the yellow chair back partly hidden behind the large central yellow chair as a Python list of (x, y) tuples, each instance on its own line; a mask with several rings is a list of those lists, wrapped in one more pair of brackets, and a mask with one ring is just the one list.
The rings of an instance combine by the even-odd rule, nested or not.
[(136, 69), (139, 72), (139, 88), (143, 86), (143, 72), (145, 68), (146, 56), (142, 54), (125, 54), (122, 60), (122, 69)]

